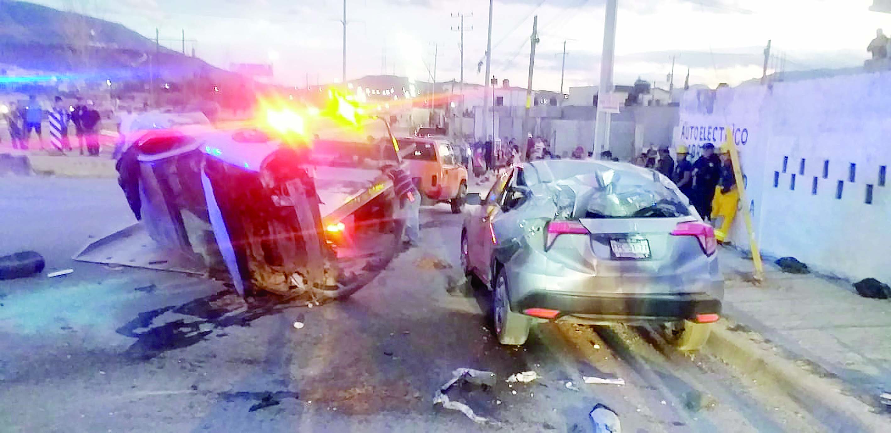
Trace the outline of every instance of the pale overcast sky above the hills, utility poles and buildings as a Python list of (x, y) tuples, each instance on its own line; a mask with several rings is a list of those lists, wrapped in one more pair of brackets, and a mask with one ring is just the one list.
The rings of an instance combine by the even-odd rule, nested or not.
[[(198, 56), (228, 68), (270, 62), (274, 81), (303, 86), (340, 79), (342, 0), (38, 0), (62, 10), (116, 21), (162, 39), (185, 29)], [(560, 89), (560, 53), (567, 41), (565, 88), (596, 85), (600, 76), (605, 0), (496, 0), (492, 73), (525, 86), (532, 20), (541, 43), (536, 89)], [(771, 65), (787, 70), (862, 65), (866, 45), (891, 14), (869, 12), (871, 0), (618, 0), (617, 85), (642, 77), (666, 87), (735, 85), (761, 76), (772, 39)], [(482, 83), (486, 51), (485, 0), (347, 0), (347, 78), (388, 73), (429, 79), (438, 46), (437, 81), (459, 78), (455, 13), (464, 13), (464, 79)], [(472, 14), (472, 16), (470, 16)], [(472, 29), (471, 29), (472, 27)], [(180, 49), (177, 41), (161, 41)], [(191, 51), (192, 42), (187, 42)], [(386, 51), (386, 63), (384, 52)]]

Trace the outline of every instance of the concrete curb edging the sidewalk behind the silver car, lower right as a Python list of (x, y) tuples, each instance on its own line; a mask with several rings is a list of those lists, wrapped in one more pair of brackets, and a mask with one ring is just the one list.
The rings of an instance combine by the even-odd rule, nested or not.
[(846, 394), (838, 380), (805, 371), (776, 355), (773, 347), (752, 339), (756, 334), (731, 331), (728, 324), (727, 320), (715, 323), (705, 347), (708, 354), (748, 378), (779, 388), (831, 431), (891, 431), (891, 419)]

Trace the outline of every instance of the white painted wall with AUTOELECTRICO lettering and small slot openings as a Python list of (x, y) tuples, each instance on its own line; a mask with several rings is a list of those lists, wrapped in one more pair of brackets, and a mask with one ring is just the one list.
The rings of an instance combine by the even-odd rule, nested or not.
[[(891, 72), (691, 90), (683, 96), (674, 143), (699, 151), (703, 143), (717, 145), (727, 134), (734, 137), (765, 253), (797, 257), (854, 280), (891, 282), (891, 185), (878, 183), (879, 167), (891, 166), (888, 101)], [(848, 178), (850, 164), (855, 164), (854, 182)], [(839, 181), (841, 199), (836, 198)], [(864, 202), (867, 184), (873, 185), (872, 204)], [(730, 239), (748, 248), (741, 216)]]

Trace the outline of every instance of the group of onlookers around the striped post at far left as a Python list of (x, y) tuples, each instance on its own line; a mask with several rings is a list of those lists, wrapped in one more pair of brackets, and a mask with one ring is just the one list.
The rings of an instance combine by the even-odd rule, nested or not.
[[(70, 132), (73, 129), (80, 154), (99, 155), (99, 127), (102, 116), (92, 101), (84, 102), (82, 97), (73, 105), (65, 104), (60, 96), (53, 99), (53, 105), (46, 109), (37, 101), (37, 95), (30, 95), (27, 102), (0, 104), (0, 114), (13, 150), (28, 151), (35, 145), (32, 134), (37, 135), (39, 149), (49, 147), (62, 153), (73, 151)], [(44, 127), (44, 125), (46, 127)], [(47, 136), (45, 139), (45, 135)], [(0, 135), (0, 142), (3, 141)]]

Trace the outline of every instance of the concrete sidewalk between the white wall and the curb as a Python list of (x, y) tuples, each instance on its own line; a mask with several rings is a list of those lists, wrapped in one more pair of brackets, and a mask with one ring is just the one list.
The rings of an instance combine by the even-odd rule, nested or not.
[[(752, 281), (752, 262), (738, 250), (718, 249), (726, 282), (723, 311), (755, 331), (805, 370), (841, 380), (846, 391), (875, 404), (891, 388), (891, 300), (862, 298), (850, 282), (819, 274), (785, 274), (764, 263), (764, 282)], [(747, 329), (748, 328), (748, 329)]]

